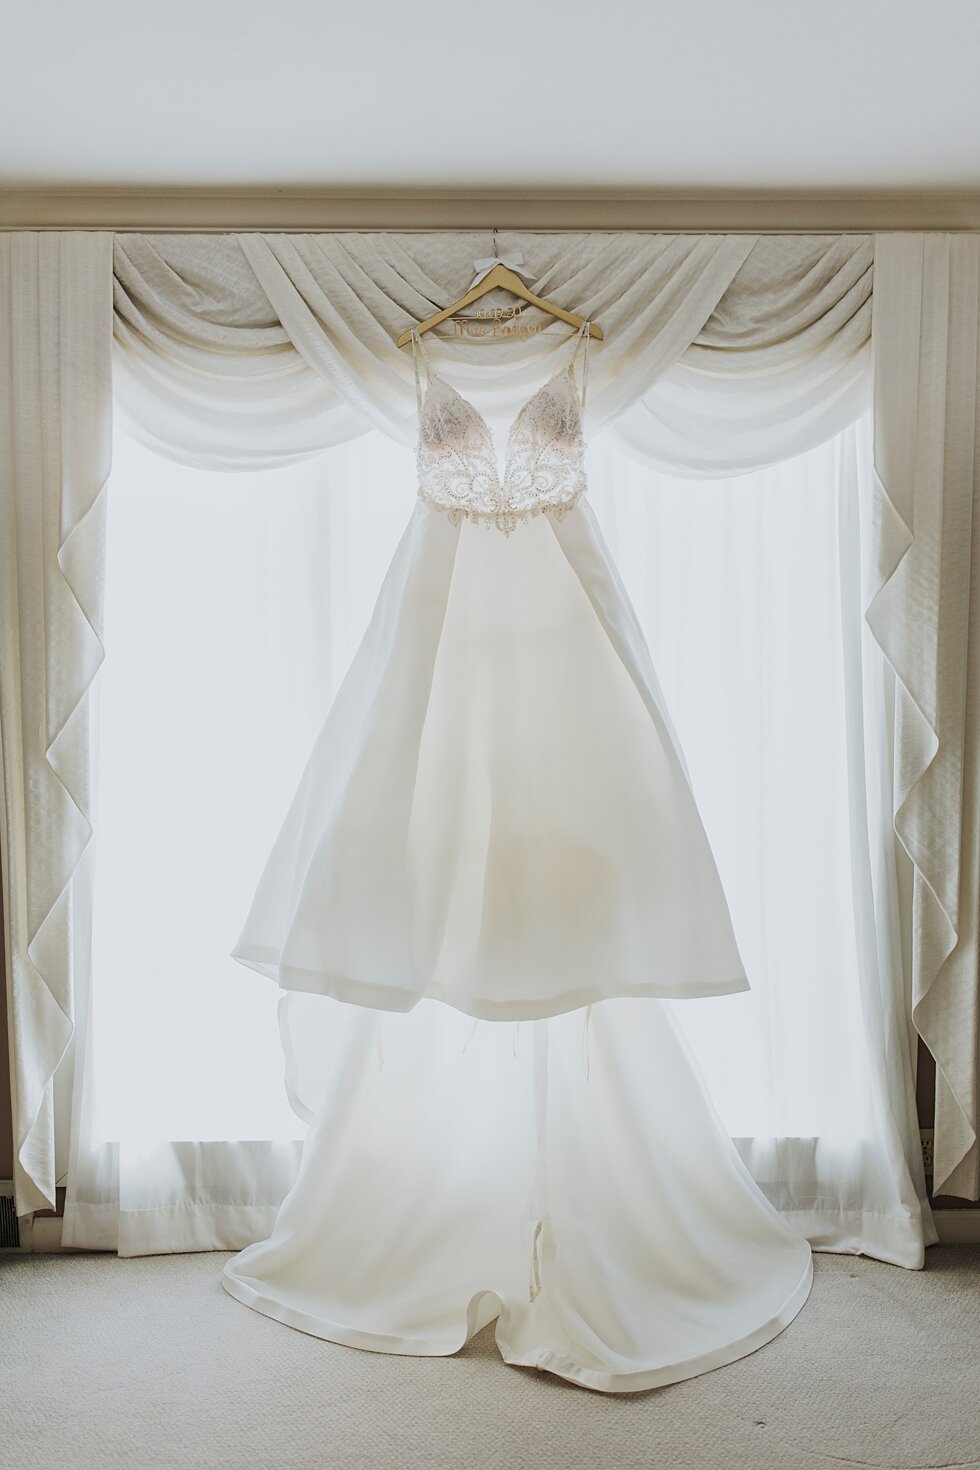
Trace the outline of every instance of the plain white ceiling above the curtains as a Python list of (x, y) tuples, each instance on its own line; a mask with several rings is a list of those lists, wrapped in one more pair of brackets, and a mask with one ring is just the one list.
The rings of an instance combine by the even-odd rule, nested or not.
[(46, 0), (0, 188), (980, 188), (977, 0)]

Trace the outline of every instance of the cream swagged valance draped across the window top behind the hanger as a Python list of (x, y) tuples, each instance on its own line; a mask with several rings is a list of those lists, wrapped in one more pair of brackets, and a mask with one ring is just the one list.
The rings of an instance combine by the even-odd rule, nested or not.
[[(215, 467), (285, 463), (370, 428), (410, 444), (411, 354), (392, 343), (455, 300), (489, 248), (476, 232), (120, 235), (116, 392), (128, 426)], [(689, 473), (771, 463), (829, 438), (870, 398), (868, 237), (501, 232), (498, 248), (523, 254), (538, 293), (601, 322), (586, 431), (610, 426), (644, 459)], [(433, 354), (504, 420), (554, 370), (566, 337), (558, 325)]]

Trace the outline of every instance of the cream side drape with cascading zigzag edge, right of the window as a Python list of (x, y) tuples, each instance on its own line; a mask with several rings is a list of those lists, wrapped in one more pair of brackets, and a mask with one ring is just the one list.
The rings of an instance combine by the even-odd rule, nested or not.
[(980, 237), (879, 235), (868, 623), (898, 675), (895, 829), (912, 1017), (936, 1058), (934, 1189), (976, 1200), (980, 1008)]

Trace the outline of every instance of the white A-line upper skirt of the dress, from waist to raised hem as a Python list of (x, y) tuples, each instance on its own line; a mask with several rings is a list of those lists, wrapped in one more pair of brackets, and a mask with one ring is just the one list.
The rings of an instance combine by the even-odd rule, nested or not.
[(510, 537), (417, 503), (234, 954), (284, 989), (486, 1020), (748, 989), (585, 503)]

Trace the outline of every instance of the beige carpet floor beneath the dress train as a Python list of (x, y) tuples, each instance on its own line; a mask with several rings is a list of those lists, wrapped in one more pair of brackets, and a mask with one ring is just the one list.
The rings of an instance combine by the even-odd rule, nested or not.
[(980, 1247), (817, 1255), (801, 1316), (688, 1383), (604, 1396), (501, 1363), (319, 1342), (223, 1255), (0, 1258), (3, 1470), (980, 1467)]

